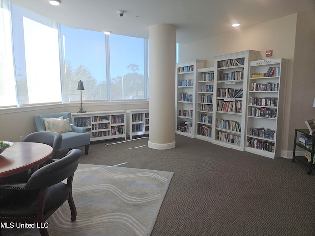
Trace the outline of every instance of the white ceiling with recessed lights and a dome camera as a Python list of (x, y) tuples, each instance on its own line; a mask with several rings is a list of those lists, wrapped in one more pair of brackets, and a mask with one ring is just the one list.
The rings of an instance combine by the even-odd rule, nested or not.
[[(149, 38), (149, 26), (173, 24), (177, 42), (201, 40), (297, 12), (315, 12), (315, 0), (11, 0), (71, 28)], [(118, 11), (123, 10), (123, 17)]]

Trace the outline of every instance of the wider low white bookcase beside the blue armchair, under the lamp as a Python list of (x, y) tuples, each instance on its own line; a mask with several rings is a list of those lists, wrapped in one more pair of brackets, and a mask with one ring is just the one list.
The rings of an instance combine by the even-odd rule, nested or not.
[(100, 111), (72, 113), (75, 126), (85, 127), (90, 133), (90, 141), (125, 138), (126, 111)]

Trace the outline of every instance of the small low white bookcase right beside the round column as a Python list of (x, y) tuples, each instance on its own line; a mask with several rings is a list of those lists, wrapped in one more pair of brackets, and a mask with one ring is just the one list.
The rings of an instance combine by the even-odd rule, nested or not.
[(149, 109), (126, 110), (126, 118), (130, 139), (135, 135), (149, 134)]

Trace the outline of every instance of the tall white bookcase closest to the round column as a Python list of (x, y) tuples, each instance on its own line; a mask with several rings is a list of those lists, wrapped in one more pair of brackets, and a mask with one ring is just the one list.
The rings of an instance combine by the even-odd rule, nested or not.
[(196, 82), (204, 60), (176, 64), (175, 133), (195, 138)]

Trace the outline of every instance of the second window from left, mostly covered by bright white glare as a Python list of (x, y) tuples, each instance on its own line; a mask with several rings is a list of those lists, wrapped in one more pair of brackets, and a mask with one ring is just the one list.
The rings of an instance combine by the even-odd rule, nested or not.
[(11, 14), (18, 104), (61, 102), (56, 26), (14, 4)]

